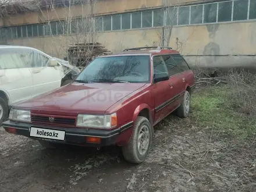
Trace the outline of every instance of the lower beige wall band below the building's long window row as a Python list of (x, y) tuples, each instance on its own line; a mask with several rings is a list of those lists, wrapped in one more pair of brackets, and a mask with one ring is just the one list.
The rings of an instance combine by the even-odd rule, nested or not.
[[(166, 33), (168, 30), (166, 29)], [(183, 55), (256, 55), (256, 37), (252, 31), (256, 31), (256, 22), (176, 26), (172, 29), (169, 47), (177, 49)], [(69, 43), (82, 42), (82, 36), (57, 35), (7, 42), (12, 45), (35, 47), (48, 54), (63, 56)], [(98, 33), (95, 41), (102, 43), (113, 52), (131, 47), (160, 45), (161, 28)]]

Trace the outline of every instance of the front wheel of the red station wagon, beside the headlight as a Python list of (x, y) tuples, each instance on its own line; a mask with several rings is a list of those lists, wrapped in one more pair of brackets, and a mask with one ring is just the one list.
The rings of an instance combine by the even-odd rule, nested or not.
[[(143, 130), (145, 131), (144, 134), (141, 133), (141, 131)], [(138, 149), (138, 136), (140, 135), (140, 133), (143, 136), (141, 138), (143, 138), (145, 142), (141, 143), (140, 145), (142, 148), (145, 148), (144, 151)], [(145, 140), (145, 138), (148, 138), (148, 140)], [(138, 164), (144, 162), (145, 159), (148, 157), (148, 153), (150, 152), (151, 142), (152, 127), (150, 125), (150, 122), (147, 118), (138, 116), (136, 122), (134, 123), (134, 129), (133, 133), (131, 134), (130, 143), (122, 147), (123, 157), (126, 159), (126, 161), (131, 163)]]

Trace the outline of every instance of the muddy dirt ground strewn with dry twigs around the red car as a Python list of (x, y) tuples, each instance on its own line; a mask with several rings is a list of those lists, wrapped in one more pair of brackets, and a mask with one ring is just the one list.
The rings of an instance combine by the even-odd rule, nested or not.
[(196, 112), (159, 123), (141, 165), (127, 163), (118, 147), (46, 150), (1, 127), (0, 191), (256, 191), (254, 136), (242, 142), (200, 126)]

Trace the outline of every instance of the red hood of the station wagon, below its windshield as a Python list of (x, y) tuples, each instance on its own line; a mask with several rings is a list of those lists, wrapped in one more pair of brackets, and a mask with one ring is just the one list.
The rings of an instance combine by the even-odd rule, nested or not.
[(32, 113), (77, 115), (104, 113), (120, 99), (140, 90), (145, 83), (71, 83), (15, 105)]

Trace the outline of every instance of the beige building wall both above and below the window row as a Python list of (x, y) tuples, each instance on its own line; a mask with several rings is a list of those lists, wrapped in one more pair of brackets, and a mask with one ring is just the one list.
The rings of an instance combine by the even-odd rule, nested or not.
[[(249, 0), (251, 3), (256, 0)], [(187, 0), (168, 1), (168, 0), (98, 0), (93, 6), (96, 15), (116, 14), (123, 12), (131, 12), (133, 10), (141, 10), (147, 8), (156, 8), (162, 5), (173, 5), (175, 3), (186, 3)], [(234, 4), (234, 2), (233, 2)], [(250, 5), (250, 4), (248, 4)], [(218, 7), (220, 4), (218, 5)], [(256, 6), (256, 4), (255, 4)], [(81, 16), (81, 14), (91, 11), (88, 6), (74, 6), (72, 10), (67, 8), (55, 9), (54, 11), (44, 10), (40, 13), (26, 13), (23, 16), (15, 16), (0, 20), (3, 25), (15, 25), (26, 23), (41, 23), (46, 20), (65, 19), (68, 14), (73, 17)], [(253, 8), (253, 6), (252, 6)], [(233, 12), (233, 9), (232, 9)], [(248, 13), (248, 12), (247, 12)], [(247, 15), (246, 13), (246, 15)], [(254, 13), (250, 9), (250, 13)], [(234, 15), (235, 16), (235, 15)], [(254, 15), (255, 17), (256, 15)], [(233, 15), (232, 15), (233, 17)], [(125, 48), (161, 45), (166, 40), (171, 30), (169, 45), (164, 41), (164, 45), (173, 47), (186, 55), (191, 64), (199, 62), (200, 65), (225, 65), (227, 61), (234, 63), (234, 59), (221, 59), (222, 55), (256, 55), (256, 19), (247, 16), (247, 20), (232, 22), (218, 22), (212, 24), (191, 24), (184, 26), (144, 28), (131, 30), (116, 30), (98, 32), (93, 38), (94, 41), (100, 42), (112, 52), (119, 52)], [(218, 18), (218, 16), (217, 16)], [(202, 18), (204, 20), (204, 18)], [(167, 18), (166, 18), (167, 20)], [(191, 20), (190, 20), (191, 21)], [(66, 55), (68, 45), (83, 42), (85, 39), (91, 40), (91, 36), (84, 37), (82, 34), (72, 35), (54, 35), (45, 37), (17, 38), (13, 40), (2, 40), (3, 43), (11, 45), (24, 45), (34, 47), (46, 52), (49, 55), (63, 58)], [(190, 56), (191, 55), (191, 56)], [(197, 59), (200, 56), (200, 59)], [(214, 55), (214, 56), (209, 56)], [(252, 57), (250, 57), (252, 58)], [(254, 57), (255, 58), (255, 57)], [(248, 59), (248, 63), (254, 63), (255, 59)], [(222, 61), (222, 62), (220, 62)], [(219, 63), (218, 63), (219, 62)], [(240, 62), (240, 61), (239, 61)], [(236, 63), (239, 63), (236, 60)], [(237, 64), (236, 64), (237, 65)]]

